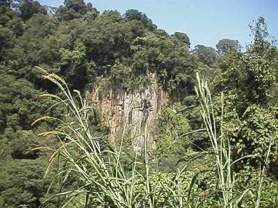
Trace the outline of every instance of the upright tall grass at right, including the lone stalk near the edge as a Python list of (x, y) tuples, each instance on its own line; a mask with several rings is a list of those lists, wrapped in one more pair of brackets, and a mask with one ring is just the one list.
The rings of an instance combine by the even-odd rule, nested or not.
[[(199, 73), (196, 74), (198, 88), (195, 87), (195, 92), (200, 98), (200, 104), (202, 107), (202, 118), (204, 124), (206, 125), (206, 131), (208, 132), (208, 137), (211, 141), (211, 146), (213, 148), (214, 161), (216, 166), (216, 175), (218, 177), (219, 191), (222, 193), (222, 207), (238, 207), (239, 203), (250, 189), (246, 188), (240, 193), (235, 193), (234, 187), (236, 182), (234, 173), (234, 164), (246, 157), (256, 157), (256, 155), (245, 155), (233, 161), (231, 158), (232, 150), (231, 144), (228, 138), (224, 137), (223, 134), (223, 113), (224, 113), (224, 93), (221, 93), (220, 103), (221, 103), (221, 116), (220, 125), (215, 123), (215, 114), (213, 109), (213, 101), (211, 98), (211, 91), (208, 88), (208, 83), (206, 80), (199, 77)], [(265, 161), (263, 168), (260, 168), (258, 189), (256, 194), (255, 207), (259, 208), (259, 203), (261, 200), (261, 190), (263, 185), (263, 179), (265, 174), (265, 166), (268, 164), (268, 158), (270, 155), (271, 146), (274, 142), (275, 137), (270, 141), (267, 152), (265, 153)]]

